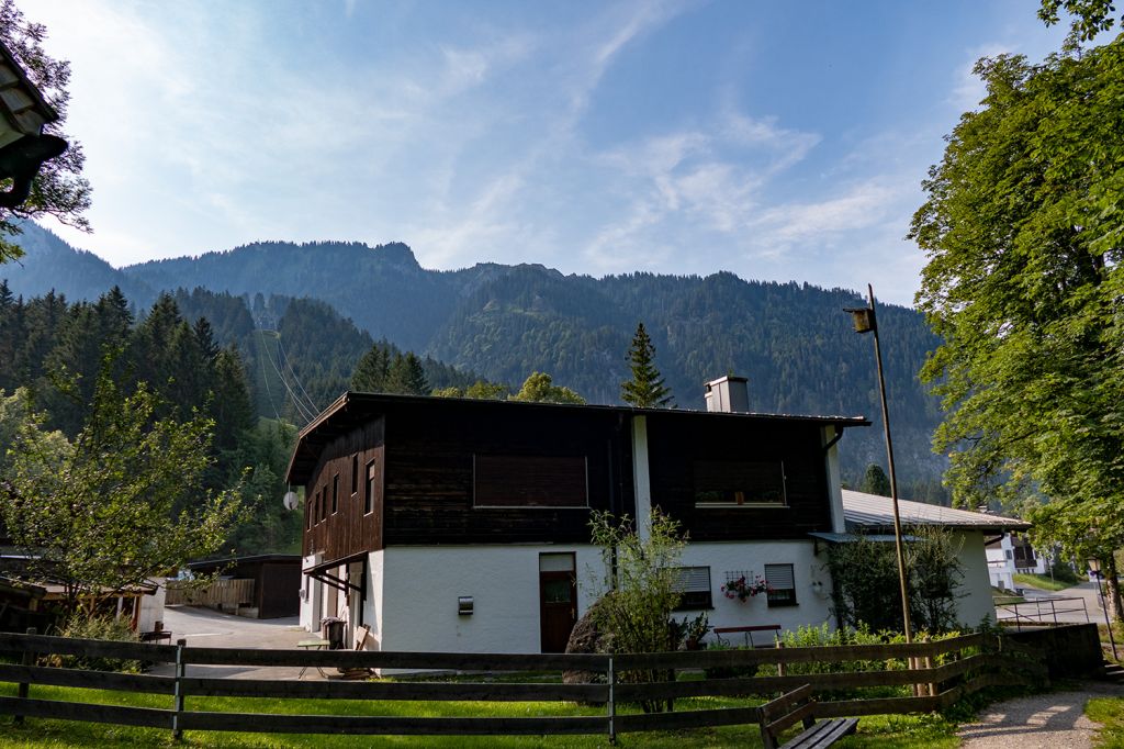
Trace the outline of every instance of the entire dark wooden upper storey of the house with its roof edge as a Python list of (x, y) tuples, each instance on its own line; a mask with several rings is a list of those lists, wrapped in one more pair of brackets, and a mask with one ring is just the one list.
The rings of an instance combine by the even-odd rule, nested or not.
[[(640, 416), (652, 502), (692, 541), (831, 531), (824, 428), (867, 423), (346, 394), (306, 427), (290, 463), (289, 480), (305, 485), (305, 554), (332, 561), (390, 545), (587, 543), (591, 509), (636, 516)], [(724, 470), (746, 486), (715, 490)], [(706, 504), (701, 489), (738, 506)]]

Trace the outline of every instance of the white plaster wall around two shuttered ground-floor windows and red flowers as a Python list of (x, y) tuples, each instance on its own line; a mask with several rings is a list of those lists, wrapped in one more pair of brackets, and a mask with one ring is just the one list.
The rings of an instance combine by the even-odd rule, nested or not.
[[(831, 613), (831, 575), (826, 568), (826, 557), (816, 558), (815, 545), (809, 541), (740, 541), (690, 543), (683, 550), (685, 567), (710, 568), (710, 596), (714, 610), (707, 612), (710, 626), (758, 626), (780, 624), (782, 630), (796, 630), (800, 625), (819, 626), (825, 622), (835, 629), (835, 617)], [(792, 565), (796, 583), (796, 605), (770, 608), (765, 594), (753, 596), (744, 603), (729, 599), (722, 593), (727, 571), (749, 570), (764, 577), (765, 565)], [(821, 593), (812, 584), (821, 583)], [(695, 612), (678, 612), (676, 616), (694, 616)], [(744, 642), (744, 635), (723, 635), (727, 641)], [(713, 635), (708, 639), (713, 639)], [(767, 644), (772, 640), (770, 632), (753, 633), (754, 644)]]

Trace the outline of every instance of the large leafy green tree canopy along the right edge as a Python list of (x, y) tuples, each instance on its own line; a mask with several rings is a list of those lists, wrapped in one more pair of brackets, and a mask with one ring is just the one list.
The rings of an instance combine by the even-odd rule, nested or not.
[[(1067, 7), (1073, 3), (1067, 3)], [(1057, 9), (1058, 3), (1044, 3)], [(922, 372), (948, 415), (958, 503), (1048, 499), (1040, 538), (1124, 539), (1124, 36), (1040, 65), (981, 60), (910, 237), (943, 343)]]

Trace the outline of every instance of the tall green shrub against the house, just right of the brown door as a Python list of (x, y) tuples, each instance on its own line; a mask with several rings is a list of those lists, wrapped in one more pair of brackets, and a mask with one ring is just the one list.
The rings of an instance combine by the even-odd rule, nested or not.
[[(627, 516), (595, 512), (589, 522), (592, 541), (601, 547), (608, 592), (597, 604), (598, 628), (607, 634), (614, 652), (664, 652), (674, 650), (677, 629), (671, 613), (679, 605), (679, 558), (685, 540), (679, 523), (652, 508), (646, 536), (636, 532)], [(674, 674), (671, 674), (674, 678)], [(665, 682), (667, 671), (624, 671), (624, 682)], [(661, 712), (671, 702), (646, 701), (644, 712)]]

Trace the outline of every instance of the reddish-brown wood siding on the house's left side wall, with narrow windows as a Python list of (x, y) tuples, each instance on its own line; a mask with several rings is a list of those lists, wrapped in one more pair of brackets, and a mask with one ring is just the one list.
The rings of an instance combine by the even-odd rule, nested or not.
[[(305, 556), (321, 553), (327, 561), (382, 548), (382, 493), (386, 476), (383, 434), (384, 419), (373, 415), (366, 424), (336, 437), (325, 446), (319, 463), (305, 487)], [(354, 460), (356, 455), (357, 461)], [(377, 471), (373, 512), (364, 514), (365, 472), (372, 460)], [(353, 494), (352, 470), (356, 464), (360, 476), (355, 481), (357, 491)], [(332, 493), (337, 482), (336, 477), (338, 496), (336, 512), (333, 513)], [(309, 527), (309, 513), (316, 509), (317, 494), (325, 507), (325, 520), (320, 521), (315, 516)]]

